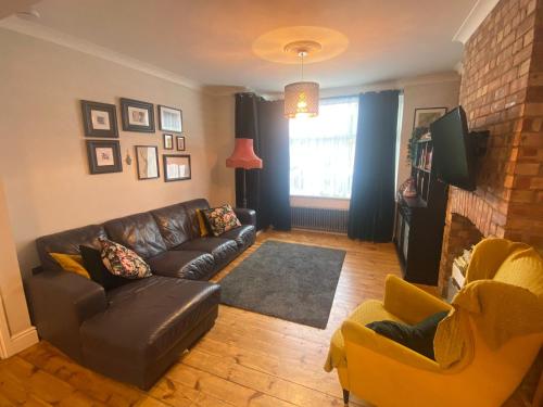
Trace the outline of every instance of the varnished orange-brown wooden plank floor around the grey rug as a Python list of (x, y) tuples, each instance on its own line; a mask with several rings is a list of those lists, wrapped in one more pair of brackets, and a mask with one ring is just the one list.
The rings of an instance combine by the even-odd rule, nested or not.
[[(87, 370), (41, 342), (0, 361), (0, 406), (342, 406), (334, 372), (323, 365), (332, 332), (366, 298), (381, 298), (400, 274), (392, 244), (342, 236), (265, 232), (214, 281), (267, 239), (346, 250), (326, 330), (220, 306), (215, 327), (149, 392)], [(354, 399), (353, 406), (365, 406)]]

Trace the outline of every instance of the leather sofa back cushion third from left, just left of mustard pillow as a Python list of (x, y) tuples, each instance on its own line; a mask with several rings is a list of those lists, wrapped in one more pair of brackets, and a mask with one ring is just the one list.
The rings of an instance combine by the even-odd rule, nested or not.
[(151, 211), (167, 249), (190, 239), (192, 227), (182, 203)]

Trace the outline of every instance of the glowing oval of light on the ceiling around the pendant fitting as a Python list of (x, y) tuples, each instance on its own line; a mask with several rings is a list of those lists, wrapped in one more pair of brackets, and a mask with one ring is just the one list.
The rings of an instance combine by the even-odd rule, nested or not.
[[(310, 47), (305, 64), (330, 60), (349, 47), (340, 31), (326, 27), (292, 26), (264, 33), (253, 42), (253, 52), (263, 60), (281, 64), (300, 64), (300, 43)], [(319, 46), (315, 48), (315, 44)], [(290, 46), (290, 48), (289, 48)]]

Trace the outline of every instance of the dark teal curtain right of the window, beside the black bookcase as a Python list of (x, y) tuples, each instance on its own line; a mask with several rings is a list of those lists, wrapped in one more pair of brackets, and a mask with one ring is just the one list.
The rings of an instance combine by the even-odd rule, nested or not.
[(359, 96), (349, 207), (351, 239), (392, 240), (399, 96), (397, 90)]

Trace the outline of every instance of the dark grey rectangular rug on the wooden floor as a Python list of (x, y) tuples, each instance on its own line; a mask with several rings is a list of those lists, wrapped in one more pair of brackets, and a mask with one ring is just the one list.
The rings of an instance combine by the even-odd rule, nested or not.
[(325, 329), (345, 252), (264, 242), (218, 283), (222, 303)]

